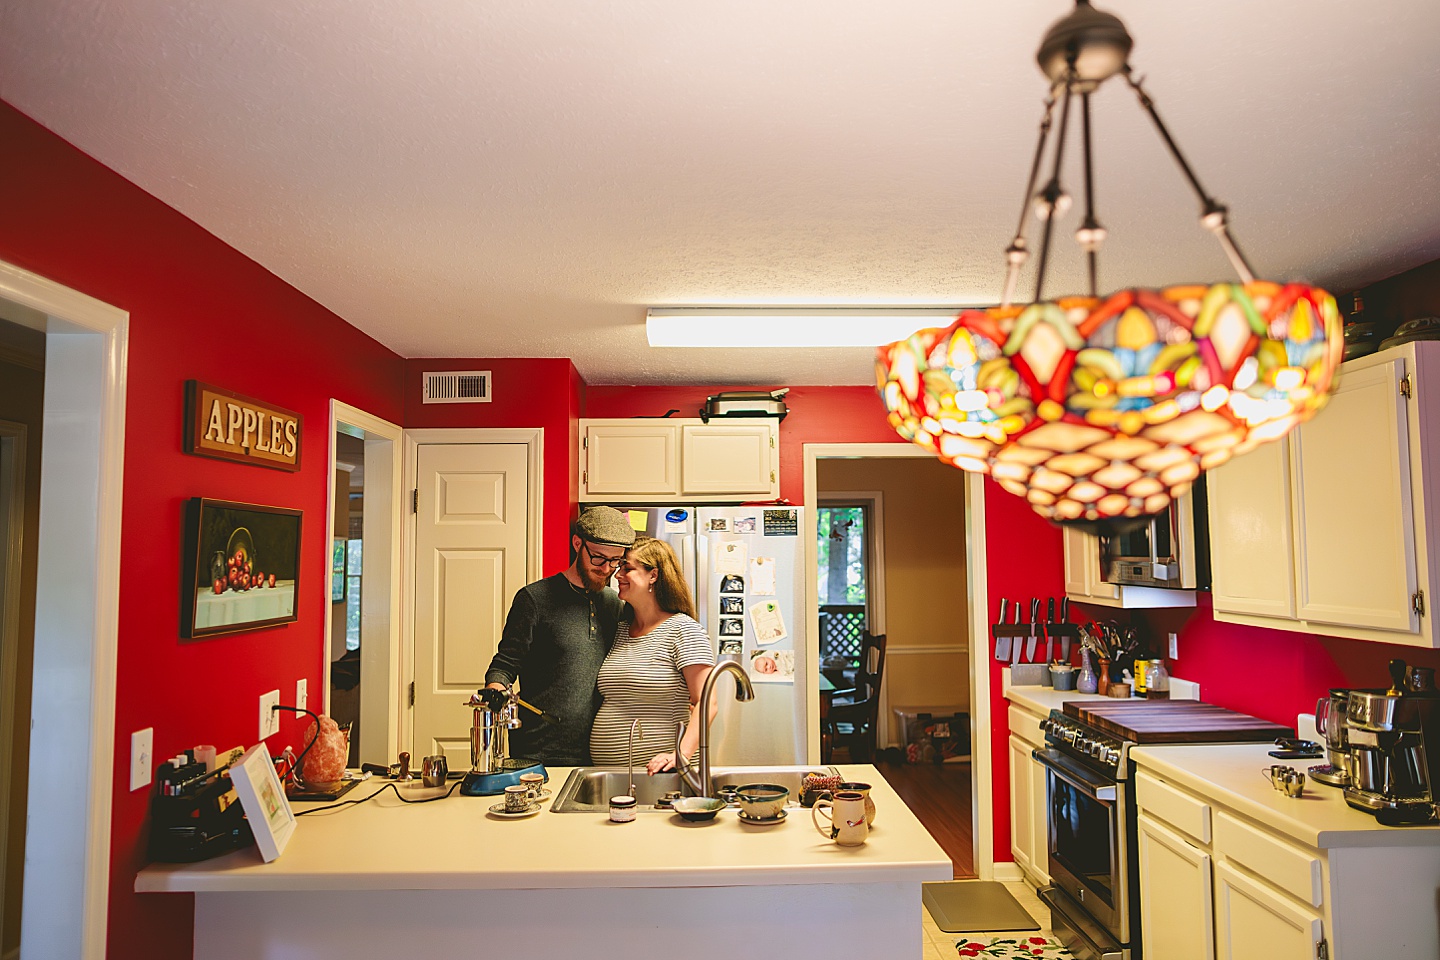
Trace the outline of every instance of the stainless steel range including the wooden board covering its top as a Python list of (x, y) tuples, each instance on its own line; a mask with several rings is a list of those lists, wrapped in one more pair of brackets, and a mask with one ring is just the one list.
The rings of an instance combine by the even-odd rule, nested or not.
[[(1139, 960), (1135, 766), (1143, 743), (1236, 743), (1287, 727), (1198, 701), (1073, 701), (1040, 723), (1045, 747), (1050, 905), (1056, 937), (1080, 960)], [(1159, 960), (1159, 959), (1158, 959)]]

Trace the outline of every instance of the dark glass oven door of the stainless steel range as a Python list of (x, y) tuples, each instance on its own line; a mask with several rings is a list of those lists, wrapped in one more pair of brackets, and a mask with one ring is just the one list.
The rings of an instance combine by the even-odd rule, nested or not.
[(1045, 767), (1051, 881), (1119, 943), (1129, 944), (1128, 784), (1054, 748), (1035, 750), (1032, 756)]

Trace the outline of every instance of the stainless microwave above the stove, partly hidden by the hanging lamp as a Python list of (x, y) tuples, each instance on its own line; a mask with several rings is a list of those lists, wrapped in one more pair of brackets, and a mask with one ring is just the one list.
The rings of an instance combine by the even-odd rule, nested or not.
[(1205, 475), (1188, 494), (1145, 524), (1100, 537), (1106, 583), (1176, 590), (1210, 589), (1210, 524)]

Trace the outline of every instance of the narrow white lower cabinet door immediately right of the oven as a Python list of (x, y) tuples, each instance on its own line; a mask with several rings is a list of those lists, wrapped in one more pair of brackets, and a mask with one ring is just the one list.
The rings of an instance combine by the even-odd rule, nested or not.
[(1210, 853), (1140, 815), (1140, 937), (1143, 956), (1214, 960)]

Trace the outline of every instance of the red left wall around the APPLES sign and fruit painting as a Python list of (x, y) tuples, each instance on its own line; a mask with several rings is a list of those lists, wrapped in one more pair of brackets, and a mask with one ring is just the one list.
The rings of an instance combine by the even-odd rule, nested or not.
[[(193, 222), (0, 104), (0, 259), (130, 311), (120, 638), (111, 818), (109, 956), (192, 954), (193, 902), (137, 895), (148, 792), (128, 789), (130, 734), (156, 756), (255, 743), (256, 702), (295, 681), (320, 689), (328, 524), (330, 399), (403, 415), (403, 364)], [(302, 469), (287, 474), (181, 452), (187, 379), (300, 412)], [(207, 640), (179, 635), (180, 518), (190, 497), (304, 511), (295, 623)], [(37, 720), (43, 723), (43, 718)], [(285, 717), (272, 747), (298, 744)], [(59, 907), (58, 907), (59, 908)]]

